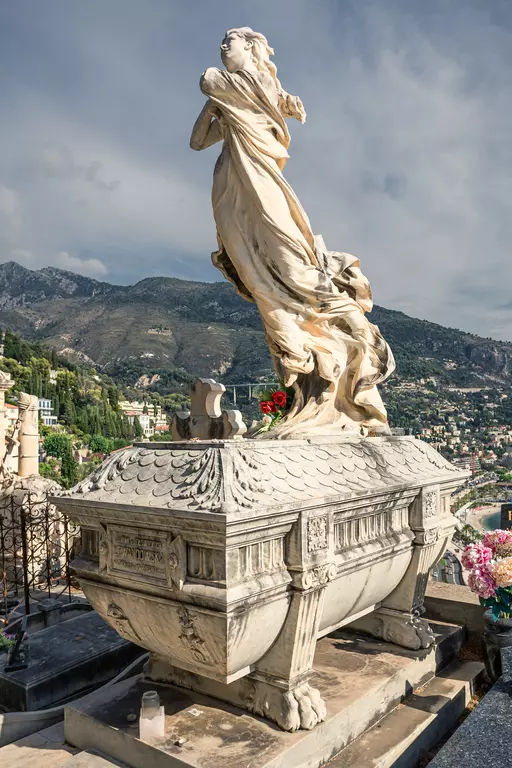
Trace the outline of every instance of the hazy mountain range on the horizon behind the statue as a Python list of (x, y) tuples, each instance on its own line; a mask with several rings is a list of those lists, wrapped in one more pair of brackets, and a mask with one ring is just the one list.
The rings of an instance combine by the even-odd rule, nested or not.
[[(370, 319), (395, 353), (396, 381), (512, 386), (512, 343), (383, 307)], [(0, 326), (142, 388), (170, 391), (191, 375), (225, 383), (274, 378), (257, 309), (226, 282), (153, 277), (122, 286), (7, 262)]]

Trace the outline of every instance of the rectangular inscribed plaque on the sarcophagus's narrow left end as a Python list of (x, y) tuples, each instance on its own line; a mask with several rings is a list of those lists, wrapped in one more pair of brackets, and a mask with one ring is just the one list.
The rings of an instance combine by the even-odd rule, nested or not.
[(168, 585), (167, 533), (109, 526), (109, 573)]

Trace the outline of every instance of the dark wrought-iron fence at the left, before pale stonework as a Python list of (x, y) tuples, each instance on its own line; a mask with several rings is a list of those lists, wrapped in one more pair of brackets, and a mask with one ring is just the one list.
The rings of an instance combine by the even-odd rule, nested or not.
[(77, 592), (70, 563), (80, 530), (50, 504), (48, 494), (23, 493), (0, 500), (0, 613), (4, 623), (23, 604), (48, 598), (71, 601)]

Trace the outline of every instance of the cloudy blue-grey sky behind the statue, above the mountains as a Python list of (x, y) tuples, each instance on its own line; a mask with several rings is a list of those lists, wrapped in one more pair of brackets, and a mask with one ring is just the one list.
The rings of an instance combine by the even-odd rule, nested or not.
[(306, 106), (314, 231), (376, 303), (512, 340), (510, 0), (0, 0), (0, 261), (218, 279), (218, 147), (188, 141), (242, 25)]

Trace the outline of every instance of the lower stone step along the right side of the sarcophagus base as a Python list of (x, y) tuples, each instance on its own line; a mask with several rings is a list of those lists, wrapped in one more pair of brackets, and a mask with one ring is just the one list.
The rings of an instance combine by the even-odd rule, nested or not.
[(452, 664), (329, 761), (326, 768), (413, 768), (453, 728), (484, 666)]

